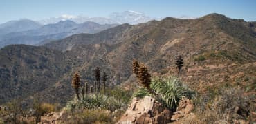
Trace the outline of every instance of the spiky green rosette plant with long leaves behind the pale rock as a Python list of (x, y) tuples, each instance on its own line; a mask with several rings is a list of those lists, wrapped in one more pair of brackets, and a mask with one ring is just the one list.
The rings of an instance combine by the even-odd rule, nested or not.
[[(189, 99), (194, 96), (194, 92), (184, 87), (182, 82), (174, 77), (152, 79), (150, 87), (158, 94), (159, 100), (170, 109), (176, 109), (179, 100), (183, 96)], [(149, 95), (149, 92), (143, 88), (134, 94), (134, 96), (139, 96), (140, 98), (146, 95)]]

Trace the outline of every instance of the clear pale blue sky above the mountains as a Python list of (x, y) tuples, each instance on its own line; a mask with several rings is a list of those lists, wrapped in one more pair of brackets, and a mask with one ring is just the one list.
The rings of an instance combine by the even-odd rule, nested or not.
[(15, 19), (46, 19), (62, 14), (107, 17), (134, 10), (149, 17), (201, 17), (217, 12), (256, 21), (256, 0), (1, 0), (0, 23)]

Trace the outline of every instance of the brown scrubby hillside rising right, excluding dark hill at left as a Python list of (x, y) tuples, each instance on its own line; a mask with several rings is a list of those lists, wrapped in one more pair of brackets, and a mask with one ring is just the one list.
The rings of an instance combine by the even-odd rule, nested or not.
[[(229, 27), (223, 28), (223, 25)], [(237, 30), (237, 34), (242, 32), (246, 38), (238, 37), (235, 32), (230, 33), (230, 29)], [(104, 32), (94, 35), (101, 36)], [(199, 19), (150, 21), (121, 32), (123, 34), (118, 34), (118, 40), (111, 39), (117, 41), (111, 42), (114, 43), (112, 45), (102, 44), (103, 41), (108, 43), (109, 37), (77, 34), (46, 46), (73, 53), (80, 63), (74, 70), (80, 70), (87, 79), (93, 79), (93, 67), (100, 66), (110, 71), (111, 83), (127, 81), (134, 58), (147, 63), (154, 75), (176, 75), (175, 56), (182, 54), (185, 59), (182, 78), (190, 87), (199, 91), (238, 84), (253, 88), (256, 38), (253, 28), (246, 21), (209, 14)], [(90, 43), (96, 44), (86, 45)], [(249, 81), (244, 81), (248, 77)]]

